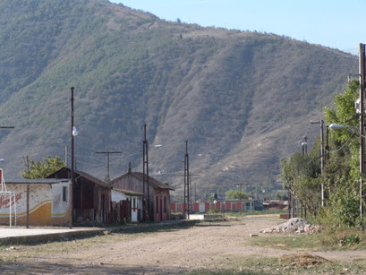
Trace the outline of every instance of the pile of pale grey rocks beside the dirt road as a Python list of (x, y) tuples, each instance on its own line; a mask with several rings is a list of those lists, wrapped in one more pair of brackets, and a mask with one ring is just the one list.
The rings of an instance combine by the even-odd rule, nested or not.
[(260, 233), (301, 233), (312, 234), (319, 230), (319, 226), (312, 225), (309, 221), (301, 218), (288, 219), (285, 223), (273, 228), (261, 230)]

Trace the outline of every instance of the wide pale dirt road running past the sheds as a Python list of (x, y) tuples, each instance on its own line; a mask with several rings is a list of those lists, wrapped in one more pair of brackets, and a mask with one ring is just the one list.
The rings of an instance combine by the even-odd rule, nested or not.
[[(294, 251), (249, 246), (250, 234), (278, 223), (277, 219), (250, 218), (220, 223), (203, 223), (144, 236), (106, 242), (71, 253), (48, 254), (3, 267), (5, 273), (98, 273), (177, 274), (186, 271), (217, 271), (226, 261), (238, 257), (281, 256)], [(106, 236), (107, 238), (108, 236)], [(69, 242), (72, 245), (72, 242)], [(329, 260), (366, 258), (366, 251), (318, 252)]]

